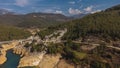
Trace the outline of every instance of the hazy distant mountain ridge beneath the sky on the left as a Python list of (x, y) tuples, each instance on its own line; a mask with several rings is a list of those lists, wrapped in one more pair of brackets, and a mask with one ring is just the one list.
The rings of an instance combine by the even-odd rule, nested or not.
[[(2, 12), (3, 13), (3, 12)], [(14, 25), (18, 27), (47, 27), (70, 20), (61, 14), (29, 13), (29, 14), (2, 14), (0, 24)]]

